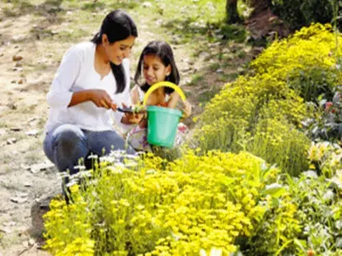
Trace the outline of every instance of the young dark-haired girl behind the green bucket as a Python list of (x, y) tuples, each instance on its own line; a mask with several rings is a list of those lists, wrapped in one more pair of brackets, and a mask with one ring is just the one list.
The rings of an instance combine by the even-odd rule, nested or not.
[[(140, 77), (144, 76), (144, 83), (140, 83)], [(155, 83), (170, 81), (179, 84), (179, 71), (174, 61), (174, 55), (169, 44), (162, 41), (153, 41), (147, 44), (140, 55), (135, 72), (135, 87), (131, 90), (133, 104), (139, 104), (144, 100), (146, 91)], [(160, 87), (148, 97), (147, 105), (164, 106), (174, 109), (179, 102), (179, 94), (170, 87)], [(183, 102), (184, 117), (191, 114), (189, 102)], [(139, 125), (127, 134), (127, 141), (135, 150), (150, 151), (147, 143), (146, 118), (137, 118)], [(184, 124), (179, 124), (175, 144), (182, 141), (182, 134), (187, 131)]]

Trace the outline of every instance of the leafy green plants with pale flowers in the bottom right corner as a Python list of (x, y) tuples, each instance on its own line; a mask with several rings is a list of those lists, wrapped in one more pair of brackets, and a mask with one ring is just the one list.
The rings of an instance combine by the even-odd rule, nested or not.
[(263, 221), (238, 240), (244, 255), (341, 255), (341, 147), (313, 143), (308, 160), (310, 171), (278, 178), (273, 189), (281, 196), (265, 198), (272, 202)]

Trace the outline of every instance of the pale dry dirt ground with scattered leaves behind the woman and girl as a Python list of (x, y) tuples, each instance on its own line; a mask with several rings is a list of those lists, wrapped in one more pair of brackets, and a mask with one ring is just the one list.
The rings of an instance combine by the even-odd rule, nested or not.
[[(144, 18), (148, 19), (147, 16)], [(153, 39), (167, 39), (165, 35), (153, 33), (142, 17), (139, 20), (140, 37), (131, 57), (132, 74), (142, 46)], [(1, 18), (0, 255), (3, 256), (49, 255), (41, 248), (42, 214), (48, 209), (49, 199), (61, 192), (61, 180), (42, 152), (43, 129), (48, 113), (45, 96), (60, 59), (71, 43), (51, 40), (47, 45), (41, 40), (44, 34), (32, 33), (47, 27), (52, 31), (49, 36), (54, 36), (61, 29), (67, 29), (68, 22), (49, 17), (37, 19), (31, 13)], [(90, 40), (93, 32), (88, 31), (73, 43)], [(213, 85), (220, 87), (226, 83), (220, 79), (222, 73), (233, 74), (236, 70), (229, 67), (213, 70), (205, 76), (206, 83), (202, 86), (190, 85), (189, 82), (201, 70), (215, 63), (210, 59), (215, 54), (215, 45), (208, 43), (211, 53), (201, 53), (196, 57), (192, 55), (193, 47), (190, 43), (177, 45), (174, 54), (181, 71), (183, 89), (194, 105), (194, 115), (197, 115), (201, 111), (199, 96), (203, 92), (210, 94)], [(232, 45), (233, 48), (239, 46)], [(250, 49), (245, 52), (247, 56), (244, 59), (232, 61), (241, 65), (248, 61)]]

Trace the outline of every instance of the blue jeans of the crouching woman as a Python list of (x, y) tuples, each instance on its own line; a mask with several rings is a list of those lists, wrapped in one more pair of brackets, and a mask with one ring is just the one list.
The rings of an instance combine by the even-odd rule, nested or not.
[(114, 130), (94, 132), (82, 130), (72, 124), (63, 124), (47, 132), (44, 139), (44, 153), (60, 171), (69, 170), (75, 174), (79, 169), (79, 159), (86, 160), (90, 153), (98, 156), (109, 154), (111, 150), (126, 150), (135, 154), (132, 147), (125, 147), (125, 142)]

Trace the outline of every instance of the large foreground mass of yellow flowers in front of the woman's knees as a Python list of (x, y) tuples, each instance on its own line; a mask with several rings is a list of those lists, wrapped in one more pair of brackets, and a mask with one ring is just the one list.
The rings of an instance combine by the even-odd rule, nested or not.
[(137, 171), (103, 171), (86, 190), (73, 188), (72, 205), (53, 201), (47, 248), (56, 255), (199, 255), (211, 248), (229, 255), (263, 218), (262, 191), (278, 173), (265, 175), (265, 161), (246, 152), (189, 151), (161, 162), (149, 155)]

